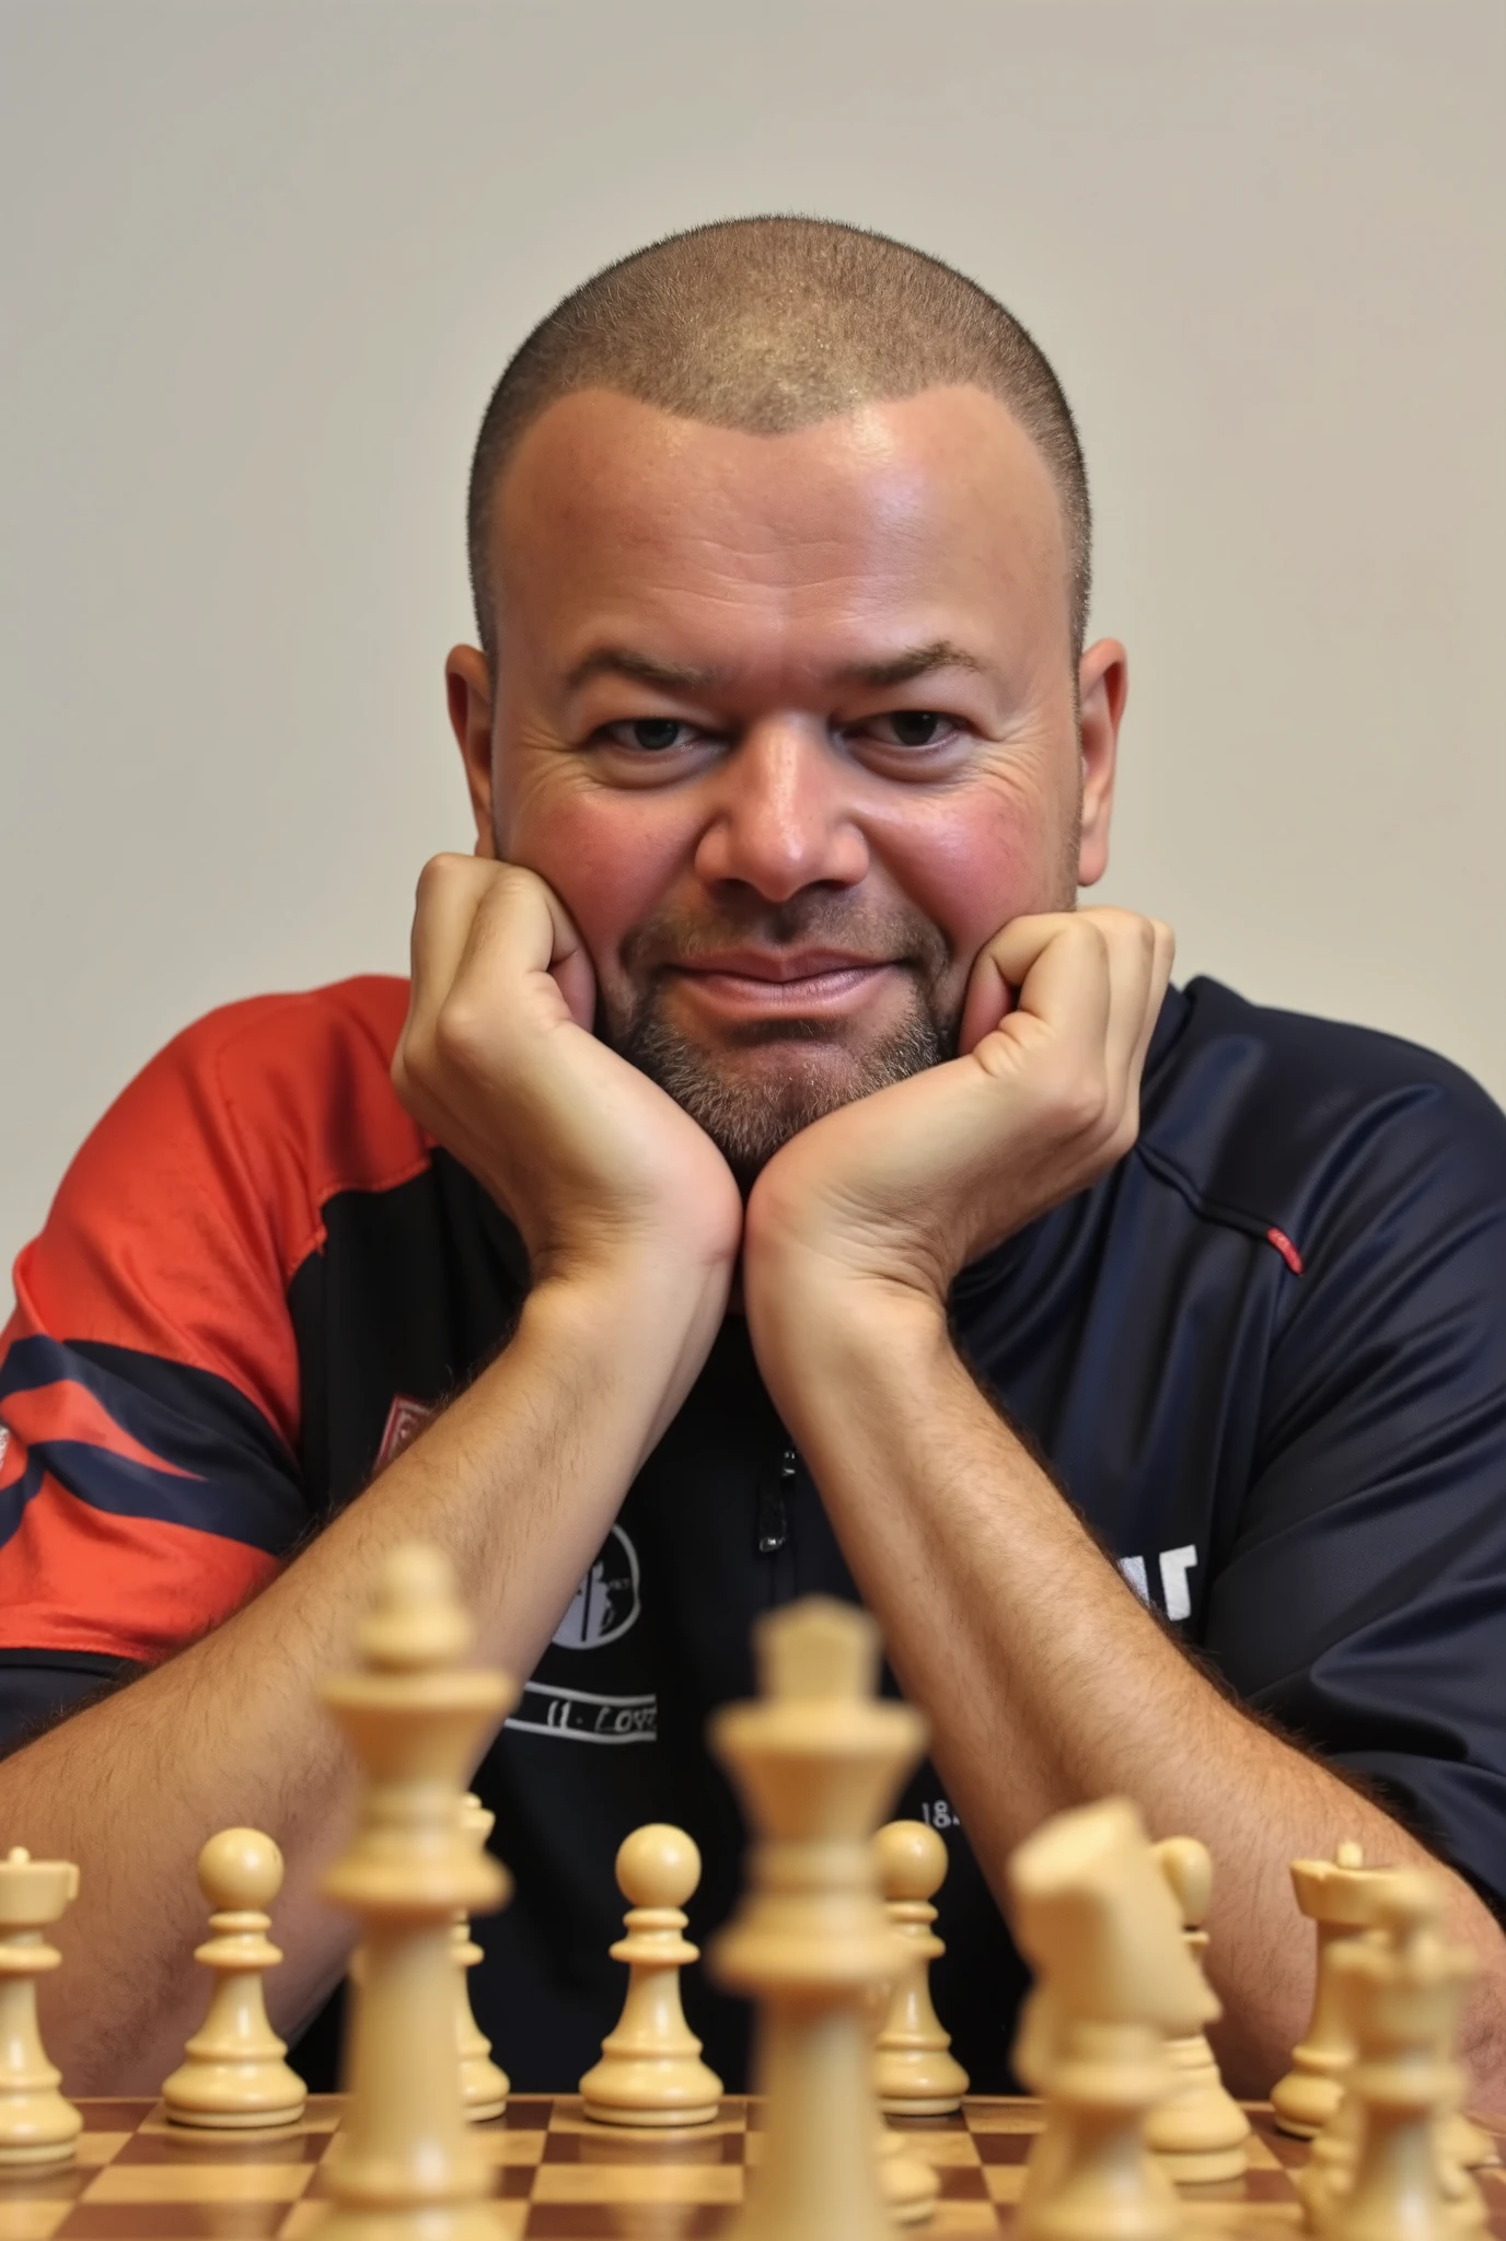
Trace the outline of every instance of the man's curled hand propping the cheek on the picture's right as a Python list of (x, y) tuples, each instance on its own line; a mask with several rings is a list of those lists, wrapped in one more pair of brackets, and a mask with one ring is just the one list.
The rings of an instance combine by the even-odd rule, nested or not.
[(973, 966), (959, 1058), (827, 1114), (769, 1161), (744, 1298), (775, 1401), (834, 1286), (943, 1309), (961, 1266), (1123, 1159), (1170, 970), (1172, 932), (1154, 919), (1015, 919)]

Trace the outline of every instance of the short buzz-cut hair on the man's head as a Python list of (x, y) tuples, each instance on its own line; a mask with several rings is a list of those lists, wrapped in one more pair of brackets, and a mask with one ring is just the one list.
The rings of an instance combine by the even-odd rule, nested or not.
[(782, 435), (948, 383), (997, 397), (1051, 473), (1076, 681), (1091, 513), (1078, 430), (1044, 352), (950, 264), (820, 217), (726, 217), (672, 233), (583, 282), (520, 345), (471, 462), (471, 594), (489, 663), (493, 498), (522, 435), (560, 397), (616, 390), (713, 428)]

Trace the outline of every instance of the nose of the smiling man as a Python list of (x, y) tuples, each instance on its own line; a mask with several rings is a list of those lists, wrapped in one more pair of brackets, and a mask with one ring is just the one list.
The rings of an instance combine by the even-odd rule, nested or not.
[(735, 878), (771, 903), (814, 885), (854, 887), (867, 840), (852, 816), (852, 773), (825, 728), (791, 717), (753, 724), (715, 778), (695, 870)]

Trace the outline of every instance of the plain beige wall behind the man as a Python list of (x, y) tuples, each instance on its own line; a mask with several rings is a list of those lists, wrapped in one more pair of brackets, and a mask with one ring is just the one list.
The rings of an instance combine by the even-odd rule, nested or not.
[(549, 305), (746, 211), (930, 249), (1080, 419), (1100, 896), (1506, 1098), (1499, 0), (0, 4), (0, 1253), (184, 1022), (468, 847), (464, 482)]

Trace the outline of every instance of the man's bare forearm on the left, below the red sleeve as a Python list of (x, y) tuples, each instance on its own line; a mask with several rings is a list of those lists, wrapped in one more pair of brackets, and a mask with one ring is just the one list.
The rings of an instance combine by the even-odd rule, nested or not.
[(226, 1824), (287, 1858), (273, 2019), (318, 2006), (350, 1945), (318, 1878), (352, 1766), (316, 1683), (350, 1658), (381, 1557), (412, 1535), (448, 1549), (477, 1656), (527, 1679), (657, 1436), (684, 1322), (672, 1293), (650, 1315), (628, 1286), (542, 1286), (506, 1351), (262, 1596), (0, 1766), (7, 1842), (81, 1867), (43, 2008), (72, 2091), (155, 2093), (179, 2057), (206, 1997), (193, 1862)]

